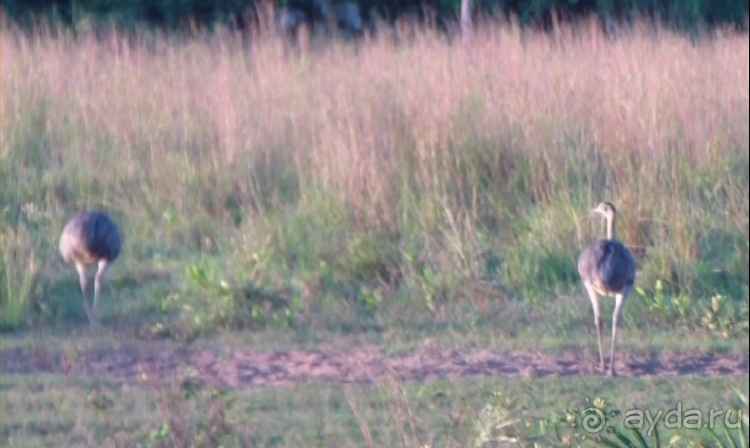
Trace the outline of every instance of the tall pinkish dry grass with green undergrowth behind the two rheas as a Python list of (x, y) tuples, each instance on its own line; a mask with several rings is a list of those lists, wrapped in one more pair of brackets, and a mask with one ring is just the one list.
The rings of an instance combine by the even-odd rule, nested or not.
[(646, 287), (747, 295), (747, 34), (502, 23), (470, 48), (417, 32), (298, 51), (1, 33), (10, 225), (38, 204), (51, 237), (104, 207), (140, 260), (263, 253), (308, 277), (325, 260), (445, 300), (477, 279), (577, 288), (587, 210), (610, 200)]

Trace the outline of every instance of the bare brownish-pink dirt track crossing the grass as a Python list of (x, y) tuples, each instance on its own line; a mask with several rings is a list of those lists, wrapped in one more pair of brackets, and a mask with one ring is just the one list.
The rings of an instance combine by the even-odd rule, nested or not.
[[(746, 375), (747, 355), (622, 354), (616, 366), (624, 377)], [(544, 377), (598, 374), (597, 362), (581, 353), (554, 356), (533, 352), (443, 350), (386, 355), (382, 349), (291, 351), (177, 351), (119, 348), (88, 350), (74, 358), (46, 350), (3, 350), (3, 374), (56, 373), (107, 376), (124, 381), (179, 380), (192, 372), (200, 382), (230, 387), (276, 387), (306, 381), (369, 383), (457, 380), (477, 377)]]

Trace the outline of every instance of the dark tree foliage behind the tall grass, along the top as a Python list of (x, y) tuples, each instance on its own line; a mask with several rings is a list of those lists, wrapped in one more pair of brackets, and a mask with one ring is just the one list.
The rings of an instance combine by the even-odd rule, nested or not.
[[(313, 20), (321, 5), (355, 3), (367, 17), (392, 22), (409, 15), (418, 20), (437, 18), (438, 25), (458, 20), (461, 0), (274, 0), (277, 7), (293, 7)], [(29, 25), (40, 19), (75, 25), (81, 18), (119, 27), (154, 26), (180, 29), (216, 24), (244, 28), (254, 20), (259, 0), (2, 0), (6, 19)], [(474, 0), (476, 14), (514, 15), (526, 26), (548, 28), (552, 18), (575, 21), (597, 15), (602, 20), (650, 18), (667, 26), (694, 31), (715, 26), (748, 28), (748, 0)]]

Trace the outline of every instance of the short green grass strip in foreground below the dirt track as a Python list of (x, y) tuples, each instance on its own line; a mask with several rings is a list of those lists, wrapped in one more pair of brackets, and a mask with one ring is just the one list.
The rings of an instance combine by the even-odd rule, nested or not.
[[(662, 410), (664, 415), (678, 406), (682, 413), (734, 409), (727, 420), (723, 415), (715, 420), (716, 431), (726, 440), (722, 424), (732, 427), (738, 409), (747, 416), (735, 392), (747, 396), (747, 383), (747, 375), (627, 381), (568, 377), (189, 392), (180, 384), (14, 377), (4, 379), (2, 440), (3, 446), (18, 447), (354, 447), (368, 446), (368, 440), (370, 446), (458, 447), (560, 446), (567, 438), (577, 446), (571, 427), (575, 420), (567, 417), (575, 414), (574, 407), (594, 406), (596, 398), (607, 400), (603, 409), (621, 411), (609, 420), (619, 430), (630, 410), (652, 415)], [(664, 423), (655, 425), (663, 446), (689, 446), (688, 436), (709, 434), (670, 429)], [(649, 439), (654, 437), (649, 425), (641, 428)], [(739, 440), (737, 430), (730, 431)], [(585, 433), (579, 429), (578, 434)], [(610, 433), (602, 435), (614, 439)], [(680, 435), (679, 442), (668, 445)]]

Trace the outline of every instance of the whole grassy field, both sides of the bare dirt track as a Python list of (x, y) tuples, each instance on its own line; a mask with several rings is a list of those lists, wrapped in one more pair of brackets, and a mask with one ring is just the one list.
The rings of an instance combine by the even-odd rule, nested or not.
[[(504, 23), (471, 48), (417, 31), (300, 49), (4, 24), (0, 46), (4, 349), (429, 344), (593, 362), (575, 263), (603, 232), (588, 210), (609, 200), (639, 262), (619, 350), (747, 356), (746, 33)], [(81, 208), (124, 234), (103, 333), (57, 253)], [(2, 440), (216, 446), (200, 422), (168, 420), (206, 423), (217, 407), (229, 446), (366, 445), (362, 422), (377, 446), (467, 446), (498, 388), (552, 418), (592, 394), (621, 409), (738, 406), (730, 386), (746, 396), (747, 379), (299, 385), (230, 391), (230, 409), (204, 389), (159, 404), (180, 385), (158, 398), (3, 375)]]

